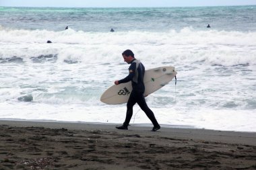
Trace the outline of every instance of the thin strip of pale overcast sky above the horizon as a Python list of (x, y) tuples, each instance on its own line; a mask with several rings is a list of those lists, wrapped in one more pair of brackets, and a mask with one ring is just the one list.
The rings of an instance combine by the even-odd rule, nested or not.
[(256, 0), (0, 0), (11, 7), (194, 7), (256, 5)]

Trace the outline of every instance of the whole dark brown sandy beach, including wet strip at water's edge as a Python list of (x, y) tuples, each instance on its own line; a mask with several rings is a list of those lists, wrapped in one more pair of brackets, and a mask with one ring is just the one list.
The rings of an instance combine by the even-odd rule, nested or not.
[(256, 169), (256, 133), (0, 121), (0, 169)]

